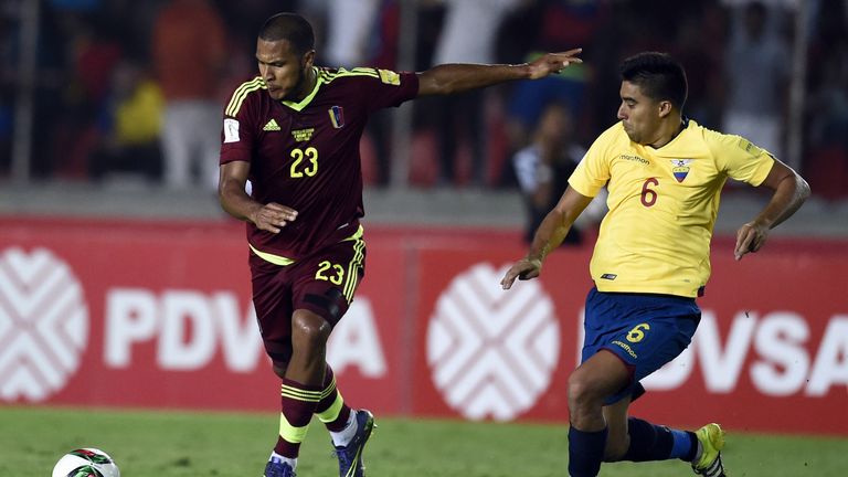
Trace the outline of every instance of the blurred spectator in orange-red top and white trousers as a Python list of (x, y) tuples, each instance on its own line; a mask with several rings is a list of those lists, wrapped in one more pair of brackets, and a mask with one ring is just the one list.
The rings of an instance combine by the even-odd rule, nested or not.
[(215, 190), (221, 129), (216, 81), (225, 76), (224, 23), (206, 0), (173, 0), (157, 18), (152, 42), (166, 98), (165, 182), (171, 188), (200, 184)]

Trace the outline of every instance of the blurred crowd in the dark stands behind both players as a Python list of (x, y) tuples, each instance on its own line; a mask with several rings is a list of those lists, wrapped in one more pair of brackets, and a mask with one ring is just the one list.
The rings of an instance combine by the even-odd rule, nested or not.
[[(21, 47), (28, 1), (36, 0), (0, 7), (0, 179), (10, 177), (25, 89), (18, 72), (35, 54), (34, 179), (214, 188), (224, 103), (256, 74), (262, 22), (290, 10), (316, 26), (316, 63), (326, 66), (423, 71), (583, 47), (585, 63), (555, 77), (404, 106), (413, 108), (411, 186), (520, 188), (529, 204), (547, 208), (559, 192), (540, 188), (561, 187), (556, 174), (569, 173), (579, 151), (616, 120), (619, 61), (656, 50), (687, 68), (689, 117), (791, 163), (791, 85), (801, 71), (794, 166), (815, 194), (848, 198), (846, 0), (806, 2), (806, 65), (798, 71), (799, 0), (43, 0), (34, 53)], [(407, 8), (416, 13), (411, 22)], [(414, 57), (402, 56), (404, 41)], [(370, 187), (386, 186), (400, 160), (393, 117), (371, 118), (362, 147)]]

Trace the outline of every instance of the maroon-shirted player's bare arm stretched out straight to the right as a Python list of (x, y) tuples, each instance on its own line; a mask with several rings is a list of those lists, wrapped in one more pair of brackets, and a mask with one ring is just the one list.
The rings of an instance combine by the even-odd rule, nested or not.
[(491, 86), (513, 80), (539, 80), (559, 73), (572, 63), (583, 63), (577, 57), (582, 49), (561, 53), (547, 53), (532, 63), (465, 64), (452, 63), (433, 66), (418, 73), (418, 96), (448, 95)]

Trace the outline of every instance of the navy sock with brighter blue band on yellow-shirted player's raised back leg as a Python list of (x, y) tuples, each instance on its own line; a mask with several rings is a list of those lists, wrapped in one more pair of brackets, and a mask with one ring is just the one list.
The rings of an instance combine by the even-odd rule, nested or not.
[(624, 460), (647, 462), (679, 458), (692, 460), (698, 451), (693, 433), (654, 425), (636, 417), (627, 418), (630, 447)]

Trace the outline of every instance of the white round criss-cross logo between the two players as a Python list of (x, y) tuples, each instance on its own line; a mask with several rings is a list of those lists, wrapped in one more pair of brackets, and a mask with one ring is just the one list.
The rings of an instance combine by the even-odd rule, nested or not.
[(548, 390), (560, 354), (553, 301), (538, 280), (504, 292), (506, 268), (477, 264), (436, 303), (427, 363), (445, 402), (470, 420), (509, 421)]

